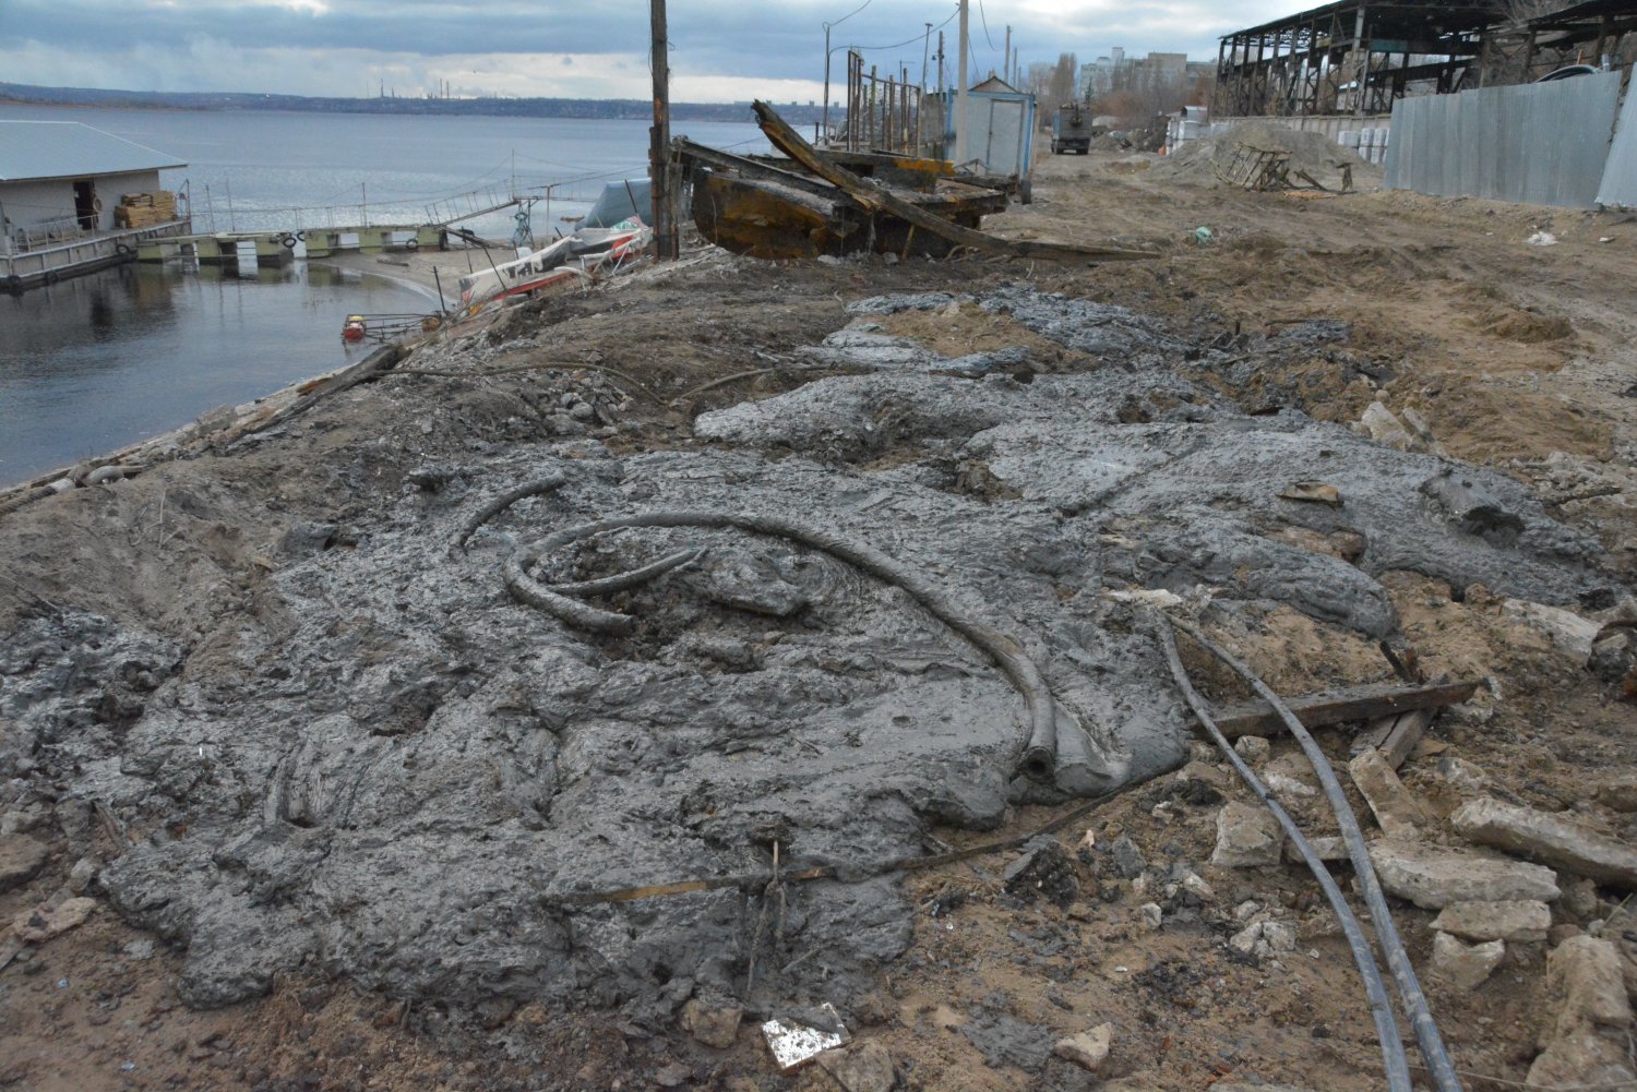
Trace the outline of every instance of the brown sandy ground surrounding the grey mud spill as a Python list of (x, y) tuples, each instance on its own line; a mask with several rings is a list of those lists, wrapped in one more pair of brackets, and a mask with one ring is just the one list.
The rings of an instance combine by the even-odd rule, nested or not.
[[(692, 444), (707, 409), (791, 390), (802, 377), (778, 367), (850, 321), (845, 303), (887, 291), (972, 291), (1025, 280), (1077, 298), (1116, 303), (1233, 339), (1297, 319), (1347, 324), (1339, 345), (1252, 368), (1231, 396), (1247, 411), (1293, 404), (1323, 421), (1357, 421), (1372, 399), (1416, 409), (1449, 455), (1526, 483), (1567, 524), (1594, 535), (1629, 589), (1637, 576), (1637, 216), (1524, 208), (1475, 200), (1365, 192), (1298, 198), (1180, 185), (1146, 177), (1144, 157), (1046, 157), (1035, 201), (992, 218), (1020, 237), (1152, 241), (1161, 257), (1133, 265), (1062, 268), (967, 259), (840, 265), (730, 262), (696, 254), (678, 268), (643, 270), (609, 291), (529, 305), (480, 329), (473, 352), (491, 367), (573, 360), (616, 390), (640, 380), (607, 445), (619, 453)], [(1200, 226), (1211, 242), (1195, 244)], [(1529, 246), (1537, 231), (1557, 244)], [(370, 268), (375, 262), (363, 262)], [(396, 259), (395, 259), (396, 260)], [(465, 255), (416, 255), (385, 272), (426, 283), (429, 267)], [(732, 275), (724, 270), (732, 268)], [(447, 288), (447, 285), (445, 285)], [(963, 311), (945, 321), (884, 319), (887, 332), (945, 355), (1030, 342), (1003, 316)], [(514, 345), (527, 339), (527, 345)], [(1049, 342), (1054, 368), (1092, 367)], [(624, 377), (624, 378), (622, 378)], [(728, 378), (738, 377), (738, 378)], [(724, 381), (725, 380), (725, 381)], [(568, 377), (588, 388), (584, 373)], [(375, 440), (413, 435), (431, 408), (458, 404), (498, 442), (517, 431), (521, 378), (458, 388), (427, 381), (414, 393), (372, 385), (272, 439), (208, 452), (120, 486), (128, 535), (100, 537), (87, 491), (0, 516), (0, 629), (41, 602), (141, 620), (178, 640), (214, 619), (255, 612), (268, 544), (296, 521), (345, 517), (388, 504), (357, 486), (403, 470)], [(604, 388), (606, 390), (606, 388)], [(627, 390), (625, 393), (637, 395)], [(527, 401), (527, 399), (525, 399)], [(886, 453), (882, 468), (913, 452)], [(337, 468), (347, 468), (339, 485)], [(165, 496), (193, 494), (196, 512)], [(1406, 501), (1408, 503), (1408, 501)], [(1319, 548), (1319, 547), (1315, 547)], [(1324, 547), (1329, 548), (1329, 547)], [(1406, 784), (1441, 824), (1463, 799), (1447, 760), (1481, 771), (1486, 791), (1563, 810), (1627, 842), (1637, 820), (1603, 789), (1637, 763), (1632, 679), (1599, 678), (1539, 629), (1509, 616), (1483, 588), (1450, 588), (1414, 573), (1382, 581), (1403, 639), (1429, 675), (1480, 675), (1493, 688), (1445, 712), (1405, 766)], [(1288, 607), (1231, 627), (1239, 648), (1285, 693), (1382, 681), (1373, 642)], [(1220, 673), (1215, 697), (1238, 693)], [(203, 652), (188, 671), (200, 686), (234, 684), (234, 660)], [(3, 722), (0, 722), (3, 727)], [(1344, 758), (1349, 730), (1321, 742)], [(1290, 745), (1275, 763), (1301, 776)], [(26, 773), (0, 796), (8, 846), (28, 835), (47, 848), (33, 874), (0, 892), (0, 920), (25, 915), (70, 882), (82, 858), (121, 851), (116, 824), (83, 801), (51, 801)], [(922, 907), (910, 951), (874, 972), (845, 1013), (861, 1041), (886, 1048), (907, 1089), (1208, 1089), (1260, 1079), (1308, 1089), (1382, 1087), (1372, 1028), (1346, 948), (1311, 878), (1295, 868), (1208, 864), (1226, 778), (1206, 787), (1172, 779), (1136, 787), (1059, 835), (1072, 894), (1059, 905), (1007, 891), (1015, 853), (979, 856), (907, 879)], [(1023, 807), (997, 835), (1028, 832), (1056, 809)], [(1313, 810), (1308, 819), (1318, 819)], [(1095, 848), (1076, 853), (1087, 838)], [(943, 843), (979, 837), (940, 832)], [(1143, 856), (1143, 889), (1110, 855), (1130, 838)], [(938, 846), (928, 846), (938, 848)], [(1188, 899), (1167, 884), (1187, 871), (1211, 887)], [(79, 884), (79, 881), (75, 881)], [(83, 886), (83, 884), (80, 884)], [(97, 887), (87, 887), (97, 897)], [(1624, 946), (1637, 981), (1637, 918), (1616, 887), (1576, 887), (1554, 909), (1557, 938), (1583, 930)], [(1164, 904), (1149, 928), (1139, 907)], [(1224, 940), (1244, 904), (1297, 933), (1270, 959), (1238, 956)], [(1405, 904), (1400, 928), (1418, 966), (1429, 958), (1432, 914)], [(0, 938), (0, 951), (7, 940)], [(650, 1089), (837, 1087), (818, 1069), (778, 1076), (753, 1020), (732, 1046), (702, 1046), (679, 1028), (638, 1027), (586, 1007), (404, 1004), (334, 982), (319, 968), (278, 976), (270, 995), (190, 1010), (177, 992), (185, 953), (126, 925), (105, 902), (47, 943), (18, 946), (0, 969), (0, 1087), (18, 1089)], [(1427, 979), (1468, 1087), (1521, 1082), (1552, 1017), (1549, 945), (1509, 946), (1477, 989)], [(1100, 1077), (1035, 1053), (1059, 1035), (1113, 1025)], [(1102, 1084), (1100, 1084), (1102, 1081)]]

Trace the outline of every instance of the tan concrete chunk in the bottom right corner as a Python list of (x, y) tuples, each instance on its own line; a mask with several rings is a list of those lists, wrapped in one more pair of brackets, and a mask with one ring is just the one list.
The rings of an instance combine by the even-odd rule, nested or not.
[(1629, 1054), (1632, 1005), (1612, 943), (1572, 936), (1545, 964), (1549, 1005), (1527, 1087), (1622, 1087), (1637, 1082)]

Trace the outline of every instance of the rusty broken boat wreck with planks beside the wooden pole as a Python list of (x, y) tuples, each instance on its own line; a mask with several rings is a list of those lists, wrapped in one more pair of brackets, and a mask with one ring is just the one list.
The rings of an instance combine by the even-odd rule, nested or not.
[(958, 174), (938, 159), (818, 151), (766, 103), (756, 121), (782, 152), (733, 156), (673, 141), (691, 180), (691, 213), (712, 244), (760, 259), (876, 252), (948, 257), (958, 250), (1058, 260), (1130, 260), (1149, 250), (1000, 239), (982, 218), (1007, 208), (1017, 178)]

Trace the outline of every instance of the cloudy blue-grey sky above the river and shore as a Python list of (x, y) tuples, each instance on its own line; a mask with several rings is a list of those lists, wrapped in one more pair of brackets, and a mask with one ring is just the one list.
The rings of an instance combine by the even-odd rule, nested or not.
[[(671, 95), (681, 102), (817, 100), (823, 23), (835, 70), (864, 46), (882, 72), (920, 79), (927, 23), (954, 0), (670, 0)], [(1216, 57), (1216, 36), (1303, 3), (1277, 0), (972, 0), (972, 64), (1000, 69), (1123, 46)], [(985, 29), (987, 26), (987, 29)], [(0, 0), (0, 80), (144, 92), (648, 98), (640, 0)], [(832, 93), (837, 98), (837, 93)]]

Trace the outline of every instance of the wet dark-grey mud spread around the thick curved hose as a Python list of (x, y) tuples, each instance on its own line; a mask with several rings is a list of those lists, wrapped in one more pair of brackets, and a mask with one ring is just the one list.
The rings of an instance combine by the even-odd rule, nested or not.
[[(753, 999), (845, 1000), (910, 940), (874, 863), (927, 851), (931, 825), (989, 830), (1017, 802), (1175, 766), (1162, 657), (1103, 589), (1205, 584), (1382, 637), (1388, 570), (1542, 602), (1611, 584), (1598, 547), (1522, 486), (1297, 413), (1244, 416), (1185, 378), (1184, 359), (1215, 350), (1156, 321), (1023, 288), (982, 305), (1105, 367), (967, 378), (838, 337), (825, 359), (863, 354), (869, 373), (706, 414), (704, 450), (537, 442), (481, 472), (421, 467), (386, 511), (288, 529), (277, 624), (246, 620), (213, 650), (231, 684), (182, 683), (156, 634), (36, 617), (0, 661), (5, 760), (51, 771), (64, 807), (159, 830), (100, 882), (187, 950), (190, 1004), (306, 968), (411, 999), (573, 999), (658, 1022), (696, 990), (746, 995), (751, 966)], [(455, 359), (417, 360), (440, 352)], [(452, 548), (488, 498), (553, 472), (561, 490)], [(1300, 480), (1342, 504), (1278, 496)], [(1039, 665), (1074, 776), (1017, 778), (1028, 717), (1002, 673), (904, 591), (794, 542), (630, 529), (547, 558), (539, 578), (575, 581), (704, 550), (599, 601), (637, 619), (620, 637), (503, 586), (516, 544), (678, 508), (825, 527), (935, 581)], [(1311, 553), (1269, 537), (1283, 527), (1362, 548)], [(838, 878), (561, 904), (761, 876), (774, 851)]]

